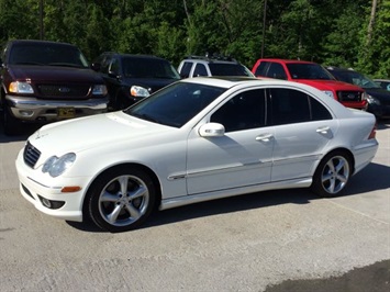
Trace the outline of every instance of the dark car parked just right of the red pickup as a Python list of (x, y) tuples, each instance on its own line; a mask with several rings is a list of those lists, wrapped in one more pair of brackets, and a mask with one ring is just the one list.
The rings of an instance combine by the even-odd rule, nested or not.
[(378, 119), (390, 117), (390, 91), (353, 69), (327, 67), (327, 70), (338, 80), (359, 86), (366, 90), (368, 94), (367, 111), (374, 113)]

